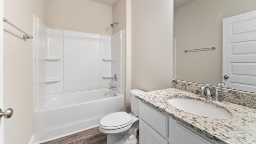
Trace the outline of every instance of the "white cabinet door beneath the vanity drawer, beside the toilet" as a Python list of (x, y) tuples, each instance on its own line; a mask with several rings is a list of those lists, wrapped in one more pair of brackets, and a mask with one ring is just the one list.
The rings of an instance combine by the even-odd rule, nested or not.
[(140, 144), (168, 144), (168, 141), (143, 120), (140, 120)]

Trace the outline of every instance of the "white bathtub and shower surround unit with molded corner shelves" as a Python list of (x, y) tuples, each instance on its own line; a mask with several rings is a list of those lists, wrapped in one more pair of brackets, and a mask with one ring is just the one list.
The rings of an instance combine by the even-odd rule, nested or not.
[(124, 30), (108, 36), (34, 21), (34, 142), (98, 126), (103, 116), (123, 111)]

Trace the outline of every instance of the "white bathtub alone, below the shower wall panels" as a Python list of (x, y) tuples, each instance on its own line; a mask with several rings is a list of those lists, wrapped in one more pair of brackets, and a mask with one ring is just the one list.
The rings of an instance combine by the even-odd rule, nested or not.
[(100, 119), (124, 110), (124, 96), (98, 89), (46, 98), (34, 113), (34, 142), (46, 142), (98, 126)]

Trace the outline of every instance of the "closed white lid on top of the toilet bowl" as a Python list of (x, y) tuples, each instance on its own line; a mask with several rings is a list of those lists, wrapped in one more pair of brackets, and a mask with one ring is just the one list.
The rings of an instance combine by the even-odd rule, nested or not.
[(115, 112), (104, 116), (100, 125), (104, 127), (118, 127), (132, 122), (132, 117), (126, 112)]

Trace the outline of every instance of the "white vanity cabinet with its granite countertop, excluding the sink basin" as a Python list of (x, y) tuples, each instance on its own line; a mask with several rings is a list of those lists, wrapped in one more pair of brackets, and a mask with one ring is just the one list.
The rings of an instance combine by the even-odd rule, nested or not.
[[(256, 110), (230, 102), (213, 102), (175, 88), (138, 94), (140, 144), (253, 144)], [(209, 118), (185, 112), (168, 100), (185, 98), (211, 104), (230, 118)], [(202, 107), (204, 110), (204, 107)]]

